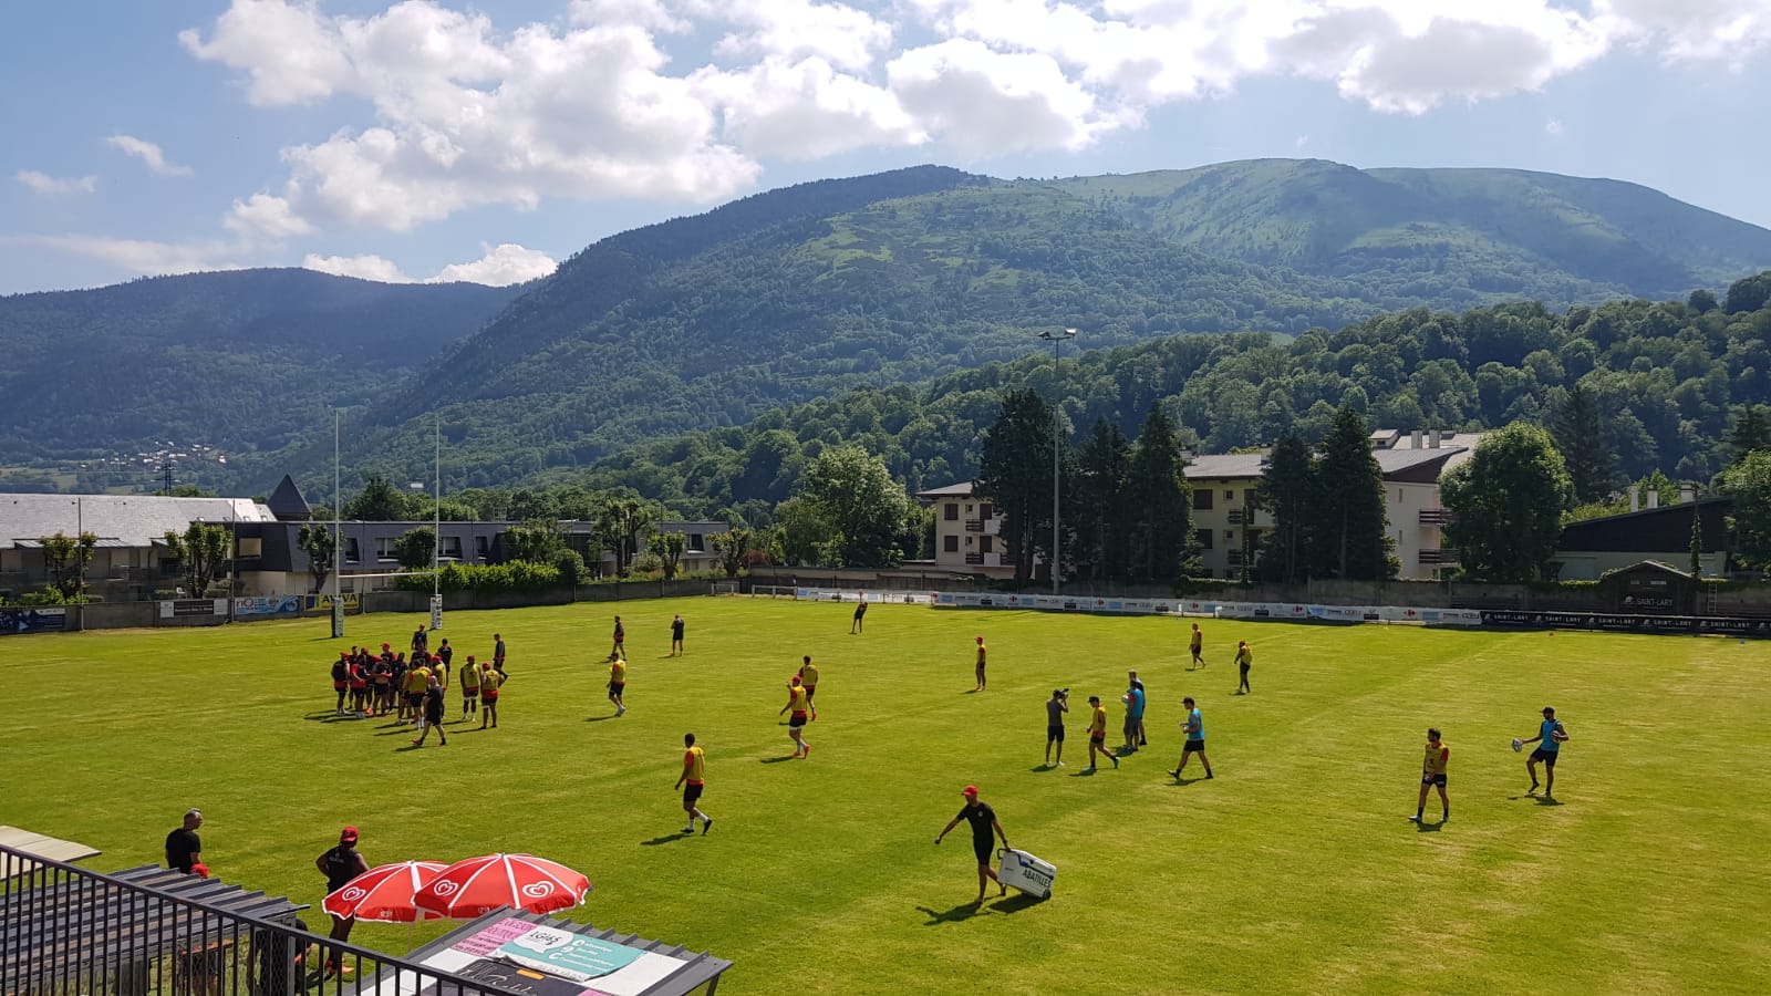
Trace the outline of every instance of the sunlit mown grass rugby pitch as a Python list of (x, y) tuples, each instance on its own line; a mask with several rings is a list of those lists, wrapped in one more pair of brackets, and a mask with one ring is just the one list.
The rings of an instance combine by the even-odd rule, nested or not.
[[(609, 720), (616, 610), (632, 665)], [(675, 611), (689, 652), (668, 659)], [(218, 877), (315, 906), (313, 858), (345, 824), (372, 865), (528, 851), (595, 883), (576, 918), (735, 961), (723, 994), (1771, 991), (1762, 643), (1204, 620), (1210, 666), (1187, 672), (1172, 619), (875, 606), (848, 636), (848, 617), (749, 599), (455, 611), (457, 663), (494, 629), (510, 643), (503, 723), (416, 751), (379, 720), (329, 721), (322, 620), (11, 638), (0, 822), (101, 847), (87, 865), (106, 870), (159, 861), (200, 806)], [(404, 645), (416, 622), (351, 619), (349, 642)], [(1229, 695), (1238, 638), (1249, 696)], [(815, 750), (781, 760), (800, 654), (824, 672)], [(1112, 704), (1118, 743), (1128, 666), (1151, 746), (1084, 776), (1086, 698)], [(1068, 767), (1045, 771), (1054, 686), (1077, 712)], [(1211, 782), (1165, 774), (1183, 695)], [(1573, 734), (1560, 805), (1523, 794), (1507, 746), (1546, 704)], [(1417, 829), (1427, 725), (1452, 748), (1452, 819)], [(677, 836), (685, 730), (707, 748), (707, 836)], [(971, 906), (965, 826), (933, 845), (969, 782), (1059, 867), (1050, 900)]]

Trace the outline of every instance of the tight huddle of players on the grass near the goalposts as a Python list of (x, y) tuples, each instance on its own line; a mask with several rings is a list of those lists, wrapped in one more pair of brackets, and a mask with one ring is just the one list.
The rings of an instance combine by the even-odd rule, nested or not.
[[(395, 652), (391, 643), (383, 643), (381, 652), (368, 647), (351, 647), (338, 650), (338, 659), (331, 666), (333, 693), (336, 695), (333, 714), (368, 720), (370, 716), (393, 716), (397, 721), (409, 721), (418, 728), (414, 746), (423, 746), (430, 728), (448, 744), (443, 732), (446, 714), (446, 695), (450, 677), (460, 684), (460, 718), (480, 716), (480, 728), (498, 727), (498, 691), (505, 684), (505, 638), (492, 634), (496, 647), (492, 659), (480, 663), (473, 654), (453, 668), (455, 649), (445, 638), (436, 652), (430, 650), (430, 633), (420, 626), (413, 633), (411, 656), (406, 650)], [(349, 704), (347, 704), (349, 700)], [(485, 704), (483, 709), (480, 704)]]

